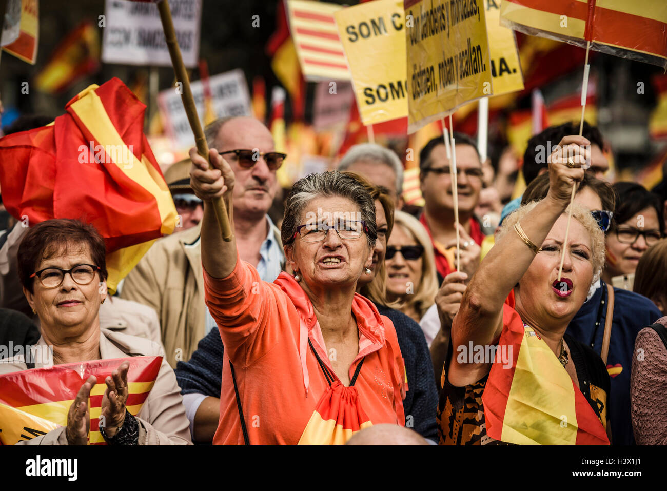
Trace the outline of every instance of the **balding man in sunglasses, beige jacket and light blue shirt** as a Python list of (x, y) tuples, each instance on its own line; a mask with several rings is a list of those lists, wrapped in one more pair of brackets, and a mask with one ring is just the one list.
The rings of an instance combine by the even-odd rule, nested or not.
[[(236, 176), (233, 213), (241, 259), (255, 266), (262, 280), (273, 282), (284, 261), (280, 233), (267, 215), (278, 187), (276, 169), (269, 169), (269, 165), (275, 167), (277, 157), (273, 137), (251, 117), (217, 119), (206, 127), (205, 134), (209, 148), (223, 155)], [(251, 159), (242, 150), (251, 151)], [(172, 192), (191, 192), (177, 185), (183, 176), (175, 178)], [(157, 312), (172, 368), (189, 360), (199, 340), (217, 330), (204, 304), (200, 231), (198, 224), (155, 242), (121, 289), (121, 298)]]

